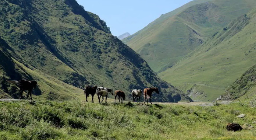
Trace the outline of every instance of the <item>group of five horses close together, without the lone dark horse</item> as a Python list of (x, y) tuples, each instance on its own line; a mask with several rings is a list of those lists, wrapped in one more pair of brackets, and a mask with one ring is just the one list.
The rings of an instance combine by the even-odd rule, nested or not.
[[(151, 103), (151, 97), (152, 97), (152, 93), (156, 92), (157, 94), (159, 94), (158, 88), (145, 88), (143, 91), (144, 94), (144, 103), (145, 100), (147, 99), (147, 103), (148, 103), (148, 98), (150, 99), (150, 103)], [(97, 87), (97, 86), (87, 86), (84, 90), (84, 94), (86, 97), (86, 102), (88, 102), (87, 97), (89, 97), (89, 94), (91, 94), (92, 96), (92, 103), (93, 101), (93, 97), (95, 94), (97, 94), (98, 99), (99, 99), (99, 103), (102, 103), (104, 100), (104, 96), (105, 96), (105, 103), (107, 103), (107, 97), (108, 94), (112, 94), (113, 95), (113, 89), (110, 88), (104, 88), (104, 87)], [(137, 101), (139, 101), (140, 103), (140, 96), (142, 94), (142, 90), (140, 89), (133, 89), (131, 91), (131, 95), (133, 97), (133, 101), (135, 102), (135, 99), (137, 99)], [(123, 101), (125, 100), (125, 93), (123, 91), (120, 90), (116, 90), (115, 93), (115, 103), (116, 103), (116, 97), (118, 97), (119, 103), (123, 103)], [(102, 97), (102, 101), (100, 101), (100, 98)], [(121, 98), (121, 101), (120, 101)], [(151, 103), (152, 104), (152, 103)]]

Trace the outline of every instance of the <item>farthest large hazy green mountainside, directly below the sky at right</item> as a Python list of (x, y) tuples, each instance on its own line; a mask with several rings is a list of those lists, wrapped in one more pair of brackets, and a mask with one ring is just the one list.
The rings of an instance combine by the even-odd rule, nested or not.
[(255, 0), (194, 0), (161, 15), (123, 42), (139, 53), (151, 69), (161, 72), (253, 8)]

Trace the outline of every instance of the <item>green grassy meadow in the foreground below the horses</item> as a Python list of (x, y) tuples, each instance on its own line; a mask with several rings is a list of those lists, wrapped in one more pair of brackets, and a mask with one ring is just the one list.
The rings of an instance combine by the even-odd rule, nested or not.
[[(242, 119), (236, 117), (246, 114)], [(2, 140), (254, 140), (255, 130), (227, 131), (227, 123), (256, 126), (248, 103), (218, 106), (28, 101), (0, 103)]]

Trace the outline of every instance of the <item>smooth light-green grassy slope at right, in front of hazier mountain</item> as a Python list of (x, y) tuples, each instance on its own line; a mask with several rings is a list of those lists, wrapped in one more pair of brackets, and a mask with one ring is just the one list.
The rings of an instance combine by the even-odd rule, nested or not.
[[(188, 54), (174, 67), (159, 74), (164, 80), (182, 88), (204, 91), (195, 100), (215, 100), (227, 86), (256, 63), (256, 14), (241, 16)], [(195, 85), (196, 84), (196, 85)]]

